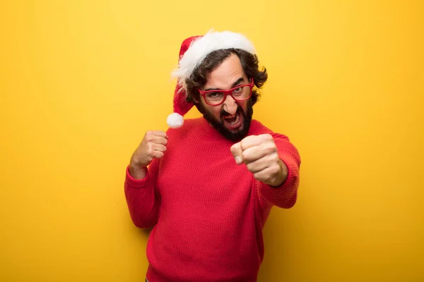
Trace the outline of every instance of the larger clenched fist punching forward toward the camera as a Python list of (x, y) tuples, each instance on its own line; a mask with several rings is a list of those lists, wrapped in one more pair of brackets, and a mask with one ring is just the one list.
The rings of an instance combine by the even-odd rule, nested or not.
[(237, 164), (246, 164), (255, 179), (271, 186), (281, 185), (287, 178), (287, 167), (278, 157), (276, 143), (269, 134), (251, 135), (232, 145)]

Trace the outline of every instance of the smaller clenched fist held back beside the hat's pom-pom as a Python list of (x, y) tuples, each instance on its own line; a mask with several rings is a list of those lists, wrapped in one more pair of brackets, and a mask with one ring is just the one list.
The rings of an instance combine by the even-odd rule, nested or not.
[(148, 131), (129, 163), (129, 173), (134, 178), (144, 178), (146, 167), (153, 159), (160, 159), (166, 151), (167, 135), (163, 131)]

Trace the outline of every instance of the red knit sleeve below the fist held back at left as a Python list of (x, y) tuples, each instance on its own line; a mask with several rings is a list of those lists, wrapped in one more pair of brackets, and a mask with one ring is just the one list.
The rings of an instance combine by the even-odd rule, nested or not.
[(146, 177), (135, 179), (126, 167), (124, 192), (129, 214), (139, 228), (149, 228), (158, 222), (160, 195), (155, 189), (158, 174), (158, 159), (154, 159), (146, 170)]

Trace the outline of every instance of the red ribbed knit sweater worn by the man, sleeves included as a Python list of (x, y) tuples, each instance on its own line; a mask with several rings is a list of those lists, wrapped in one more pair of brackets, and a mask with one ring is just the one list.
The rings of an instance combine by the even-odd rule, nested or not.
[(127, 168), (125, 196), (134, 224), (153, 227), (148, 239), (150, 282), (257, 281), (264, 257), (262, 228), (271, 207), (296, 202), (300, 157), (284, 135), (253, 120), (249, 135), (269, 133), (288, 167), (278, 188), (237, 166), (225, 139), (204, 118), (167, 130), (167, 151), (145, 178)]

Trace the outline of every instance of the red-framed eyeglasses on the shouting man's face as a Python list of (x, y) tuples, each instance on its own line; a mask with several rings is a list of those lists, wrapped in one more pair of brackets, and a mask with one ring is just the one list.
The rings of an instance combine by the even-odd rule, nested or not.
[(235, 99), (237, 102), (242, 102), (249, 99), (252, 96), (253, 90), (253, 78), (252, 82), (245, 85), (238, 85), (230, 90), (207, 90), (201, 91), (199, 89), (199, 93), (204, 97), (206, 104), (210, 106), (219, 106), (223, 104), (225, 99), (227, 99), (227, 95), (230, 95), (232, 99)]

